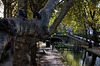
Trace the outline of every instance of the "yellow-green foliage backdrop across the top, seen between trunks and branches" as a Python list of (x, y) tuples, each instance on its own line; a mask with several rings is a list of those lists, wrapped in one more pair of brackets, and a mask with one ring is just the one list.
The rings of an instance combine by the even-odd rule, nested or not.
[[(2, 0), (4, 1), (4, 0)], [(13, 0), (7, 0), (7, 2), (12, 2)], [(0, 0), (1, 2), (1, 0)], [(14, 3), (16, 3), (14, 5)], [(33, 0), (33, 10), (36, 9), (39, 11), (44, 7), (44, 5), (47, 3), (47, 0)], [(57, 5), (56, 9), (54, 10), (54, 13), (51, 16), (49, 26), (51, 26), (56, 19), (56, 17), (59, 15), (61, 8), (63, 7), (64, 0), (60, 0), (59, 4)], [(1, 3), (0, 3), (1, 4)], [(87, 28), (95, 28), (99, 29), (100, 25), (100, 7), (98, 6), (100, 4), (99, 0), (74, 0), (74, 6), (70, 8), (69, 12), (66, 14), (65, 18), (62, 20), (62, 23), (58, 26), (57, 30), (58, 32), (62, 32), (63, 34), (66, 33), (66, 28), (68, 30), (73, 29), (74, 33), (81, 33), (84, 32), (84, 29)], [(11, 3), (11, 9), (12, 10), (12, 17), (15, 17), (18, 12), (18, 3), (17, 0), (14, 0), (14, 2)], [(95, 11), (95, 15), (93, 15)], [(91, 14), (90, 14), (91, 12)], [(94, 17), (92, 19), (91, 15)], [(28, 0), (28, 9), (27, 9), (27, 16), (29, 19), (33, 18), (34, 14), (30, 8), (30, 3)], [(87, 25), (87, 26), (86, 26)]]

